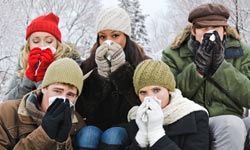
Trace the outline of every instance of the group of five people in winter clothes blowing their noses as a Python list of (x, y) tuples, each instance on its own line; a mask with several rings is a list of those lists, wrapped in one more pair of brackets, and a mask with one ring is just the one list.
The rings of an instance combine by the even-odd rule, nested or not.
[(250, 47), (221, 4), (203, 4), (153, 60), (119, 7), (96, 20), (82, 60), (53, 13), (26, 29), (0, 104), (0, 149), (250, 149)]

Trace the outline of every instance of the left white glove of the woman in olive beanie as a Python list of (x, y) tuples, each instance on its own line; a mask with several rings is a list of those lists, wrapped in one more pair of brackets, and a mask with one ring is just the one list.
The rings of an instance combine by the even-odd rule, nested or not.
[(136, 113), (136, 124), (139, 128), (138, 132), (136, 133), (135, 140), (139, 144), (141, 148), (147, 147), (148, 142), (148, 136), (147, 136), (147, 122), (144, 122), (142, 120), (142, 116), (146, 115), (146, 112), (148, 110), (147, 103), (144, 101), (138, 108)]

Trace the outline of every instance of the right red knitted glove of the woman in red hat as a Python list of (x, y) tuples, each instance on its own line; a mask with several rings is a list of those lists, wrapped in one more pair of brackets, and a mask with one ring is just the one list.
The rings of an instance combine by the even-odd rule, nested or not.
[(45, 50), (42, 50), (40, 65), (38, 66), (37, 69), (37, 77), (36, 77), (37, 82), (43, 80), (47, 68), (53, 61), (54, 61), (54, 56), (52, 54), (51, 49), (47, 48)]

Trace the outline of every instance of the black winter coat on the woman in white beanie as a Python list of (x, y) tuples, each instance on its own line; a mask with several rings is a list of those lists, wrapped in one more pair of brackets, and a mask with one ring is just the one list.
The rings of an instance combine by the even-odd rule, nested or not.
[(97, 47), (94, 46), (90, 57), (81, 65), (84, 74), (90, 70), (93, 72), (84, 81), (82, 93), (76, 103), (76, 111), (86, 118), (87, 125), (95, 125), (106, 130), (126, 123), (129, 109), (139, 104), (132, 77), (136, 65), (149, 57), (127, 37), (124, 48), (127, 62), (108, 78), (104, 78), (97, 72)]

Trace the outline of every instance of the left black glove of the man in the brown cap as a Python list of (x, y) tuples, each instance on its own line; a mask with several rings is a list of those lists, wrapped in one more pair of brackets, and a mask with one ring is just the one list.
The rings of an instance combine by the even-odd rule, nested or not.
[(209, 40), (212, 33), (205, 33), (202, 43), (196, 51), (194, 63), (197, 71), (204, 76), (209, 75), (213, 55), (213, 42)]

